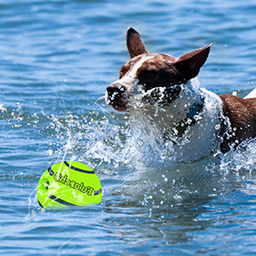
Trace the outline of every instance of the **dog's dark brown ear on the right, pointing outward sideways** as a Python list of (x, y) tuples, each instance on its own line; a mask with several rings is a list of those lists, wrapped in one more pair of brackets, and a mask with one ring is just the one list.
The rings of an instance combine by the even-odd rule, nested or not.
[(208, 44), (200, 49), (195, 49), (188, 54), (180, 56), (177, 61), (175, 61), (174, 65), (182, 74), (185, 81), (193, 79), (198, 75), (200, 68), (207, 61), (207, 56), (210, 52), (210, 47), (212, 44)]

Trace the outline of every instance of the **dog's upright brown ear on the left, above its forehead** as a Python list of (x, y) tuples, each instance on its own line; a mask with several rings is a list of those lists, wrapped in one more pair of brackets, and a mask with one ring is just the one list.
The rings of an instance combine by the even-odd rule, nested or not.
[(140, 34), (132, 27), (129, 27), (126, 32), (126, 44), (131, 59), (137, 55), (148, 53)]

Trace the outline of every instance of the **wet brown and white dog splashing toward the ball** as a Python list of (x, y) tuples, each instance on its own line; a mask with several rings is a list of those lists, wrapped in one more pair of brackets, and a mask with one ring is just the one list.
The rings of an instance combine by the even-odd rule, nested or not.
[(226, 153), (256, 137), (254, 93), (243, 99), (199, 87), (196, 76), (212, 44), (179, 58), (150, 54), (131, 27), (126, 44), (131, 60), (108, 85), (106, 101), (118, 111), (148, 117), (145, 124), (160, 133), (162, 142), (171, 141), (181, 159), (198, 160), (214, 149)]

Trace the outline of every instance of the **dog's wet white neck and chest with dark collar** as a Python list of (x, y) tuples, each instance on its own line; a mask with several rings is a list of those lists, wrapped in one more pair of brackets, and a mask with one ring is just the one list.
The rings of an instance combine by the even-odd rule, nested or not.
[(131, 97), (129, 112), (134, 119), (139, 119), (142, 127), (147, 127), (155, 141), (168, 145), (174, 159), (198, 160), (218, 148), (221, 100), (201, 89), (197, 79), (177, 86), (180, 86), (179, 94), (171, 102), (167, 102), (165, 88), (141, 94), (140, 101), (138, 96), (134, 101)]

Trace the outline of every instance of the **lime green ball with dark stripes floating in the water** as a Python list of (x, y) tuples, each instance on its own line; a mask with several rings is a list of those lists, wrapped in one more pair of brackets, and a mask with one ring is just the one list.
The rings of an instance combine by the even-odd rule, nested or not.
[(102, 201), (102, 185), (90, 167), (64, 161), (49, 167), (38, 183), (38, 202), (46, 209), (91, 206)]

